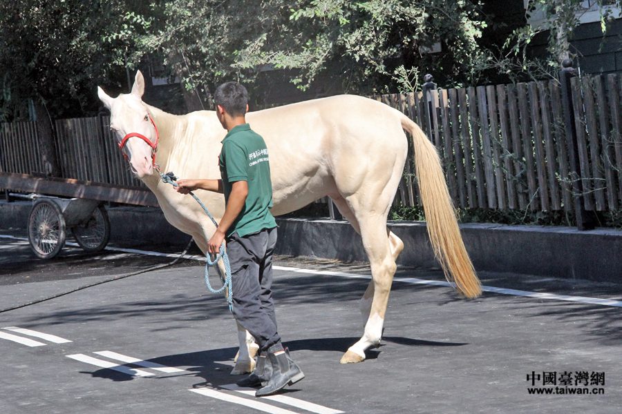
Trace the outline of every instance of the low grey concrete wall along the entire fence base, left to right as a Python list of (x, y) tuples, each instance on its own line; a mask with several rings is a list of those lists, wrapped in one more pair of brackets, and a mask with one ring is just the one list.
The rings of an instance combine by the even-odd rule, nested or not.
[[(25, 229), (30, 202), (0, 203), (0, 228)], [(111, 243), (185, 247), (190, 237), (158, 208), (109, 208)], [(277, 219), (279, 255), (366, 261), (360, 237), (346, 221)], [(398, 264), (438, 268), (424, 222), (390, 222), (404, 241)], [(462, 224), (476, 270), (622, 282), (622, 230), (580, 232), (567, 227)]]

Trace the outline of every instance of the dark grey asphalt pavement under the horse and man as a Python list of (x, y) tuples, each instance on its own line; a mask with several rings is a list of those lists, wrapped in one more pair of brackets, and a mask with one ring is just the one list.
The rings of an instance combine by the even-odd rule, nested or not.
[(487, 292), (469, 301), (435, 286), (443, 280), (436, 269), (400, 268), (382, 345), (361, 364), (340, 365), (361, 335), (368, 267), (278, 257), (279, 331), (306, 378), (276, 399), (256, 399), (231, 389), (239, 378), (229, 375), (234, 322), (223, 297), (207, 292), (201, 262), (122, 278), (173, 257), (69, 247), (45, 262), (23, 235), (0, 231), (7, 235), (0, 237), (2, 414), (619, 413), (622, 406), (622, 285), (481, 273)]

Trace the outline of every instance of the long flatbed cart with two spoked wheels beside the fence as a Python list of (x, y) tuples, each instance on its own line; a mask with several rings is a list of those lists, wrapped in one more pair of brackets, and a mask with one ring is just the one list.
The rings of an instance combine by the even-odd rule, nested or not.
[(28, 242), (41, 259), (51, 259), (60, 252), (68, 230), (87, 252), (97, 252), (106, 247), (111, 228), (104, 207), (106, 201), (158, 206), (156, 197), (147, 188), (77, 179), (0, 172), (0, 188), (22, 193), (10, 193), (10, 197), (33, 201), (28, 215)]

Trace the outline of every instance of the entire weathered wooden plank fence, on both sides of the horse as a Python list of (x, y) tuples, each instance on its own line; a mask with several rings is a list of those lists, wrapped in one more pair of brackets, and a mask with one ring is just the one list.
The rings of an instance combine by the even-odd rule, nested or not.
[[(422, 126), (437, 146), (455, 206), (569, 210), (572, 180), (581, 179), (587, 210), (622, 207), (622, 77), (572, 79), (581, 177), (569, 175), (561, 91), (557, 81), (451, 88), (373, 97)], [(56, 122), (62, 176), (120, 186), (135, 179), (108, 117)], [(381, 137), (379, 137), (381, 139)], [(411, 156), (395, 203), (420, 197)], [(42, 172), (34, 124), (0, 125), (0, 171)]]

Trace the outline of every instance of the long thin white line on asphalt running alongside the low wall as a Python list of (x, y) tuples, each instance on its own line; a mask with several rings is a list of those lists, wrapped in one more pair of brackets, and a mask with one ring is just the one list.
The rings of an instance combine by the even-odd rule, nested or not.
[[(4, 237), (8, 239), (28, 240), (23, 237), (14, 237), (14, 236), (6, 236), (6, 235), (0, 235), (0, 237)], [(146, 250), (137, 250), (137, 249), (132, 249), (132, 248), (106, 247), (106, 250), (122, 251), (126, 253), (137, 253), (140, 255), (160, 256), (160, 257), (178, 257), (179, 256), (178, 254), (173, 254), (173, 253), (158, 253), (158, 252), (151, 252), (151, 251), (146, 251)], [(205, 257), (202, 257), (202, 256), (193, 255), (193, 256), (185, 256), (184, 258), (191, 259), (191, 260), (198, 260), (200, 262), (205, 262)], [(272, 268), (274, 268), (274, 270), (285, 270), (288, 272), (296, 272), (296, 273), (308, 273), (312, 275), (339, 276), (339, 277), (348, 277), (350, 279), (368, 279), (368, 280), (371, 279), (370, 275), (358, 275), (356, 273), (334, 272), (332, 270), (314, 270), (314, 269), (305, 269), (305, 268), (293, 268), (293, 267), (288, 267), (288, 266), (272, 266)], [(408, 284), (425, 284), (429, 286), (453, 287), (453, 284), (450, 284), (449, 282), (443, 282), (440, 280), (417, 279), (415, 277), (395, 277), (393, 280), (397, 282), (408, 283)], [(495, 286), (482, 286), (482, 290), (484, 292), (500, 293), (501, 295), (534, 297), (536, 299), (562, 300), (566, 302), (577, 302), (577, 303), (583, 303), (583, 304), (614, 306), (617, 308), (622, 308), (622, 301), (612, 300), (612, 299), (601, 299), (599, 297), (556, 295), (554, 293), (530, 292), (529, 290), (497, 288)]]

